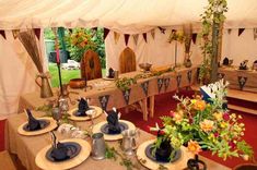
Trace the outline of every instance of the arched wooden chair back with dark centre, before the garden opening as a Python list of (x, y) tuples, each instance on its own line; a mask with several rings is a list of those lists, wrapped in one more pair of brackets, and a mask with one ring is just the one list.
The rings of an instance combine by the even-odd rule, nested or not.
[(102, 77), (102, 68), (100, 57), (96, 52), (87, 50), (80, 62), (81, 77), (95, 80)]

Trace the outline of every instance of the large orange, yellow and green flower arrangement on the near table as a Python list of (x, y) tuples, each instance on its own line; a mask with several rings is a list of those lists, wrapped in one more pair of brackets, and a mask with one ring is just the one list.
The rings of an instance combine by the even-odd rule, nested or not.
[(253, 149), (243, 139), (245, 125), (241, 122), (242, 117), (224, 108), (227, 85), (223, 81), (212, 85), (214, 98), (208, 101), (200, 96), (179, 98), (175, 95), (174, 98), (179, 101), (176, 110), (171, 111), (170, 117), (161, 118), (163, 127), (156, 124), (151, 129), (159, 131), (155, 148), (168, 141), (174, 148), (171, 158), (183, 145), (196, 155), (208, 149), (224, 160), (227, 157), (250, 158)]

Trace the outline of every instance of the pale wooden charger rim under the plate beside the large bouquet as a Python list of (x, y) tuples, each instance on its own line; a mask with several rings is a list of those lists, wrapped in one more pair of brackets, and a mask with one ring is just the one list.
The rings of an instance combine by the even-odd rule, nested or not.
[(137, 158), (140, 161), (140, 163), (151, 170), (157, 170), (160, 168), (160, 165), (166, 167), (167, 169), (184, 169), (187, 167), (187, 160), (190, 158), (194, 158), (194, 155), (187, 151), (187, 148), (182, 147), (182, 156), (178, 160), (171, 162), (171, 163), (161, 163), (151, 160), (145, 155), (145, 148), (154, 143), (155, 139), (150, 139), (144, 143), (142, 143), (138, 149), (137, 149)]

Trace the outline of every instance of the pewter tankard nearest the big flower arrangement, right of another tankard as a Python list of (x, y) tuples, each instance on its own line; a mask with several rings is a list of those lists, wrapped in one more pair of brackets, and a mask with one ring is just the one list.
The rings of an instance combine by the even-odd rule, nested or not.
[(139, 136), (138, 130), (125, 130), (121, 134), (121, 149), (126, 155), (132, 155), (133, 150), (137, 148), (137, 137)]

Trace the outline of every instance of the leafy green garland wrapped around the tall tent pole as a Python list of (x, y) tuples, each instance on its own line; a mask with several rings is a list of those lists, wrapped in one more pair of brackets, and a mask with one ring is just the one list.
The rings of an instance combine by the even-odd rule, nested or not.
[(203, 62), (200, 66), (199, 78), (210, 78), (211, 60), (213, 57), (213, 37), (211, 36), (214, 32), (214, 24), (222, 24), (225, 21), (224, 13), (227, 12), (226, 0), (208, 0), (209, 4), (206, 8), (203, 14), (201, 14), (202, 31), (200, 36), (202, 37), (202, 44), (200, 46), (203, 54)]

